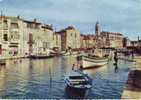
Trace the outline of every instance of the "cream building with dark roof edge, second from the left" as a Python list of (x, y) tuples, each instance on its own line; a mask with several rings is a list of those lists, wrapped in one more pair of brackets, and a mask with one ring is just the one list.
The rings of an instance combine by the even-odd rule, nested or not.
[[(25, 36), (28, 44), (26, 45), (27, 54), (48, 55), (49, 50), (55, 47), (53, 28), (50, 25), (24, 20)], [(30, 41), (29, 41), (30, 40)]]

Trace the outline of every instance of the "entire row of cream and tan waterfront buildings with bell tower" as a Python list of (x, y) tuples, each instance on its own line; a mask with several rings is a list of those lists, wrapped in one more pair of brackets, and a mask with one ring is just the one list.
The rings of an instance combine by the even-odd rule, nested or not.
[(51, 25), (42, 24), (17, 17), (0, 17), (0, 57), (27, 57), (30, 54), (47, 54), (49, 50), (57, 52), (68, 49), (80, 50), (94, 48), (97, 36), (101, 38), (101, 47), (122, 48), (124, 36), (121, 33), (101, 32), (96, 23), (95, 34), (80, 33), (73, 26), (58, 32)]

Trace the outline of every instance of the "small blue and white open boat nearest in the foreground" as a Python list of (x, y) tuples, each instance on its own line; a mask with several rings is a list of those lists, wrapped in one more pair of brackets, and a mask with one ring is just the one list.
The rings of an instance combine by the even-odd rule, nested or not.
[(65, 76), (67, 92), (71, 95), (87, 96), (92, 88), (92, 79), (80, 70), (73, 70)]

